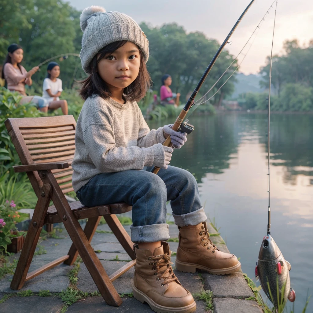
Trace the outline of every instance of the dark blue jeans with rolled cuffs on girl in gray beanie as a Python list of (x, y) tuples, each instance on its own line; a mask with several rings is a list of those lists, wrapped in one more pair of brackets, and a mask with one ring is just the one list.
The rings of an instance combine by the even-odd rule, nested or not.
[(195, 178), (188, 171), (173, 166), (160, 169), (157, 175), (142, 170), (101, 173), (76, 194), (87, 207), (117, 202), (131, 205), (131, 240), (135, 243), (170, 238), (166, 223), (167, 201), (171, 201), (177, 226), (197, 225), (207, 219)]

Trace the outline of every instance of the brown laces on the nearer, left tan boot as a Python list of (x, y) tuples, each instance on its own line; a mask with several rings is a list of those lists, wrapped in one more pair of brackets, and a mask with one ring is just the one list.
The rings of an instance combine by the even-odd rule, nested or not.
[(177, 277), (173, 273), (171, 262), (171, 256), (169, 254), (162, 254), (158, 256), (152, 257), (153, 262), (150, 265), (153, 265), (152, 270), (156, 272), (154, 275), (157, 276), (156, 280), (163, 279), (163, 283), (161, 286), (166, 283), (170, 283), (171, 281), (177, 280)]

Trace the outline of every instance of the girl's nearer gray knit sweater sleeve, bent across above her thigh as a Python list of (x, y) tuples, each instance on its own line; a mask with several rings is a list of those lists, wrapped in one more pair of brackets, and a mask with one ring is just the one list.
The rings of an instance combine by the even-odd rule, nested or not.
[[(104, 113), (104, 114), (103, 114)], [(100, 112), (102, 122), (91, 122), (83, 130), (83, 138), (88, 154), (101, 172), (121, 172), (141, 170), (151, 166), (154, 150), (138, 146), (116, 147), (109, 114)]]

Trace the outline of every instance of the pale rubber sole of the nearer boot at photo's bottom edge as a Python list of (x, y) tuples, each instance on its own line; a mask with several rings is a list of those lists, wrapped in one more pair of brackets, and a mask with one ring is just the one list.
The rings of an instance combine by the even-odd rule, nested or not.
[(142, 291), (137, 289), (134, 284), (132, 284), (134, 298), (140, 301), (141, 303), (146, 302), (150, 305), (151, 310), (156, 313), (192, 313), (196, 311), (196, 302), (193, 301), (192, 304), (183, 306), (181, 308), (171, 308), (163, 305), (159, 305), (151, 300), (147, 295)]

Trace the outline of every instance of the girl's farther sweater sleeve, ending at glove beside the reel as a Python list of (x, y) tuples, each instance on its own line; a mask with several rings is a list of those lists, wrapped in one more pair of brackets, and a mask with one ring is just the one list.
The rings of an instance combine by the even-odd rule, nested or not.
[(151, 147), (157, 143), (162, 143), (165, 141), (163, 134), (163, 127), (158, 129), (149, 129), (140, 108), (138, 107), (137, 114), (139, 115), (139, 132), (138, 132), (138, 147)]

